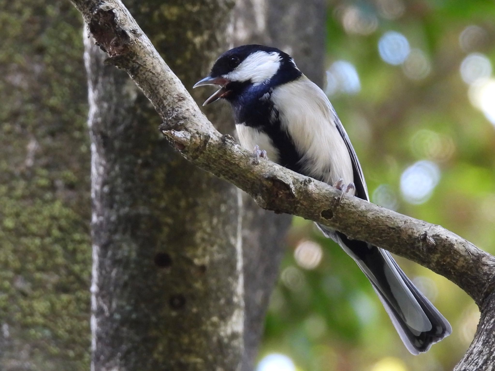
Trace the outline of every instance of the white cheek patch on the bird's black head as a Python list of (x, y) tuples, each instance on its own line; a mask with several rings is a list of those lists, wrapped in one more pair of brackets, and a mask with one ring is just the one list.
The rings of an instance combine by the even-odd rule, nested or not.
[(259, 85), (270, 80), (280, 68), (280, 54), (276, 51), (256, 51), (241, 62), (237, 68), (223, 75), (230, 81), (251, 80), (254, 85)]

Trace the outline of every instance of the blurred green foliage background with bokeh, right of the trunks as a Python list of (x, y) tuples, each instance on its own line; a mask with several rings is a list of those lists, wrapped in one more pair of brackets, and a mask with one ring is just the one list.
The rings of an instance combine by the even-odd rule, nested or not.
[[(494, 19), (494, 1), (330, 1), (325, 85), (371, 201), (492, 254)], [(453, 328), (419, 356), (404, 348), (353, 261), (295, 218), (257, 371), (451, 370), (478, 308), (445, 278), (397, 260)]]

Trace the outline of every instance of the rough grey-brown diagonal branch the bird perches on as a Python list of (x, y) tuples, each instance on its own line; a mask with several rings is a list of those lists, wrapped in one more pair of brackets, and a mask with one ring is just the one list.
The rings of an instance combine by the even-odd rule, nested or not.
[[(491, 336), (482, 336), (494, 326), (494, 305), (487, 304), (494, 296), (494, 256), (440, 226), (358, 198), (346, 197), (339, 204), (340, 192), (330, 185), (273, 162), (262, 160), (255, 165), (249, 152), (232, 137), (220, 134), (206, 119), (120, 0), (71, 1), (83, 14), (97, 44), (109, 54), (107, 62), (127, 71), (145, 93), (163, 120), (160, 130), (184, 157), (245, 190), (265, 209), (321, 223), (450, 279), (482, 311), (487, 309), (482, 319), (491, 319), (489, 325), (479, 326), (470, 348), (472, 356), (478, 353), (473, 347), (479, 347), (479, 342), (486, 349), (494, 349)], [(493, 353), (481, 357), (483, 365), (490, 364)], [(469, 354), (463, 360), (463, 369), (469, 363)]]

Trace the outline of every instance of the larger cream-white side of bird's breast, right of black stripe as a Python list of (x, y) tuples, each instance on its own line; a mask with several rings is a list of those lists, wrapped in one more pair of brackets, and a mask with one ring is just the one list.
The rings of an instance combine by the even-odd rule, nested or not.
[(329, 184), (343, 178), (353, 182), (346, 143), (334, 122), (333, 108), (325, 93), (305, 76), (276, 88), (272, 101), (282, 128), (295, 141), (307, 175)]

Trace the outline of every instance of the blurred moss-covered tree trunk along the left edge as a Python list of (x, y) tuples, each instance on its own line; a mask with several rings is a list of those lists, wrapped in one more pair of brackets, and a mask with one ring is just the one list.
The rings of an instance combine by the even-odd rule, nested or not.
[(0, 9), (0, 370), (87, 370), (90, 153), (80, 15), (65, 0), (2, 0)]

